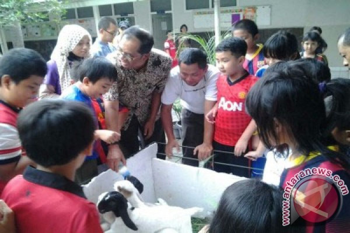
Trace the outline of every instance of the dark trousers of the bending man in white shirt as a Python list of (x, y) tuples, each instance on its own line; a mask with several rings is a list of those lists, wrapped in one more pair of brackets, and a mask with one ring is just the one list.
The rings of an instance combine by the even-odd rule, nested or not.
[[(181, 125), (183, 146), (196, 147), (203, 143), (204, 114), (197, 114), (187, 109), (182, 109)], [(184, 157), (182, 163), (198, 167), (198, 155), (193, 155), (193, 150), (193, 148), (182, 147), (182, 155)]]

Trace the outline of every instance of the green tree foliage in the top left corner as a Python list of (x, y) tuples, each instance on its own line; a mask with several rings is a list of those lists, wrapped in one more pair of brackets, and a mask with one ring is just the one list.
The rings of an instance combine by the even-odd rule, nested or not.
[(11, 26), (17, 22), (33, 23), (54, 14), (60, 19), (65, 10), (59, 0), (1, 0), (0, 26)]

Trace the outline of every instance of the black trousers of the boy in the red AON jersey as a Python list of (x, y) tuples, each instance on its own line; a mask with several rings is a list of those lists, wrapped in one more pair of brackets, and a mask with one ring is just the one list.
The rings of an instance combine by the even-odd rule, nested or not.
[[(224, 172), (224, 173), (232, 173), (236, 176), (243, 176), (243, 177), (250, 177), (250, 169), (249, 168), (243, 168), (243, 167), (235, 167), (235, 166), (228, 166), (228, 165), (221, 165), (217, 164), (216, 162), (220, 163), (228, 163), (233, 165), (239, 165), (248, 167), (250, 165), (249, 159), (245, 158), (244, 156), (236, 156), (233, 153), (235, 152), (234, 146), (227, 146), (220, 144), (216, 141), (213, 141), (213, 147), (214, 147), (214, 170), (216, 172)], [(218, 151), (224, 151), (224, 152), (232, 152), (230, 153), (220, 153), (216, 152)]]

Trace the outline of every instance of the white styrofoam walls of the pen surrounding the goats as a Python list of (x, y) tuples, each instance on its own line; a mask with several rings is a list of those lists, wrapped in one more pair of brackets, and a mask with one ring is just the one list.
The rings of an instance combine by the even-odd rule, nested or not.
[[(144, 184), (142, 198), (154, 203), (157, 198), (183, 208), (202, 207), (197, 217), (207, 217), (216, 210), (223, 191), (232, 183), (246, 179), (205, 168), (191, 167), (156, 158), (157, 145), (152, 144), (127, 160), (130, 173)], [(107, 170), (84, 185), (86, 197), (96, 203), (98, 196), (112, 191), (123, 177)]]

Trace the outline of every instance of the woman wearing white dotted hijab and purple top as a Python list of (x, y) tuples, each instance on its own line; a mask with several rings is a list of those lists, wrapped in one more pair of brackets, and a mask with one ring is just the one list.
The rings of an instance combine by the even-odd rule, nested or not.
[(48, 72), (40, 87), (39, 97), (58, 97), (72, 84), (70, 74), (74, 62), (90, 57), (91, 35), (83, 27), (65, 25), (59, 32), (57, 44), (47, 62)]

